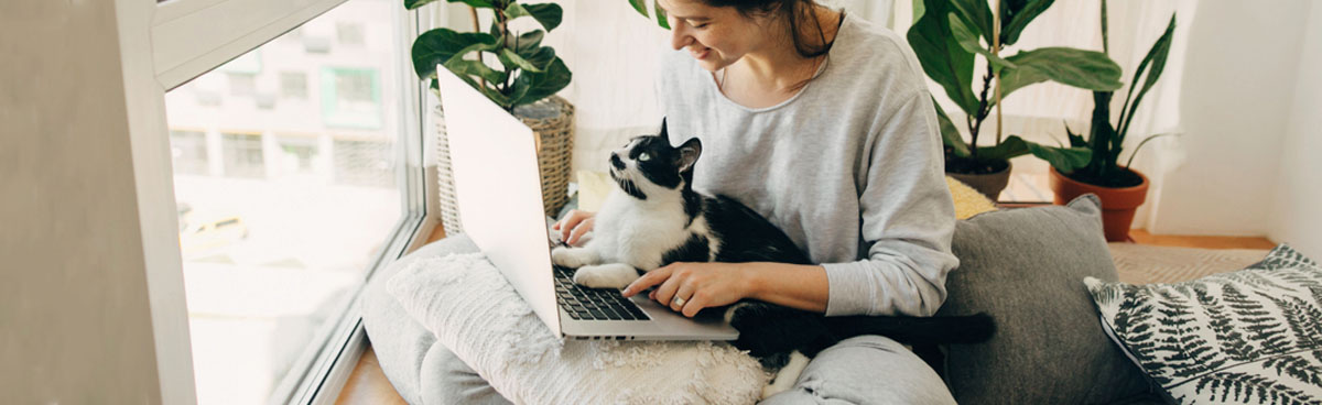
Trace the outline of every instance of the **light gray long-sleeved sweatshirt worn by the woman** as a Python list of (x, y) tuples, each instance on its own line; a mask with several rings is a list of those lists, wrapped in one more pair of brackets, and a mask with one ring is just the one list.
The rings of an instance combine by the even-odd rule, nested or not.
[(702, 140), (695, 190), (752, 207), (826, 268), (826, 315), (931, 315), (958, 259), (923, 69), (894, 32), (847, 15), (826, 61), (789, 100), (746, 108), (668, 53), (670, 141)]

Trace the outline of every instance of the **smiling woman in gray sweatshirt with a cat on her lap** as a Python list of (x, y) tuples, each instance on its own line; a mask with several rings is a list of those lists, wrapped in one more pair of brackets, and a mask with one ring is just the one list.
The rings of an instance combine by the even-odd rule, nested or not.
[[(945, 299), (954, 207), (923, 70), (892, 32), (812, 0), (658, 0), (677, 50), (658, 80), (672, 144), (702, 139), (694, 189), (730, 195), (813, 263), (677, 263), (625, 296), (685, 315), (755, 298), (826, 315), (927, 317)], [(570, 244), (591, 212), (557, 224)], [(891, 339), (822, 351), (768, 404), (953, 404)]]

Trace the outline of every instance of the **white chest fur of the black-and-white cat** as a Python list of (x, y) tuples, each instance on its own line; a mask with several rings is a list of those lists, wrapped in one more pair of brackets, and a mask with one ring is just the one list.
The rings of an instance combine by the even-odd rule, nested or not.
[(594, 226), (592, 244), (604, 263), (625, 263), (639, 270), (661, 266), (665, 252), (689, 239), (689, 216), (683, 203), (661, 201), (676, 195), (652, 195), (646, 201), (612, 190), (602, 204)]

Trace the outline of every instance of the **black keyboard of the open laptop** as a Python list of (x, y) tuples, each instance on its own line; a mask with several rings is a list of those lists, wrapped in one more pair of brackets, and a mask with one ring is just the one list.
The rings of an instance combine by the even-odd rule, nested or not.
[(590, 289), (574, 282), (574, 270), (555, 266), (555, 301), (574, 319), (650, 321), (616, 289)]

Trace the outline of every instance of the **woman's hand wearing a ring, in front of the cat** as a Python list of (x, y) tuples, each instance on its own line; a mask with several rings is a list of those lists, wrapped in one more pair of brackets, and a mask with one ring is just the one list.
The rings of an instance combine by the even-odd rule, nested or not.
[(750, 297), (754, 281), (746, 269), (743, 264), (732, 263), (673, 263), (642, 274), (623, 293), (624, 297), (633, 297), (660, 285), (648, 297), (693, 318), (705, 307), (731, 305)]

